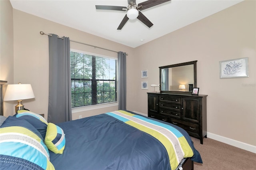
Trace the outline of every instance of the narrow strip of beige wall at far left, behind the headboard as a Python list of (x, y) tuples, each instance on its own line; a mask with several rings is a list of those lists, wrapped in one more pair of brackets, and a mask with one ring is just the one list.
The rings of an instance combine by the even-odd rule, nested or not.
[[(0, 80), (13, 84), (13, 22), (10, 1), (0, 0)], [(5, 94), (7, 84), (3, 85)], [(3, 94), (3, 95), (4, 95)], [(17, 101), (4, 102), (4, 113), (14, 111)]]

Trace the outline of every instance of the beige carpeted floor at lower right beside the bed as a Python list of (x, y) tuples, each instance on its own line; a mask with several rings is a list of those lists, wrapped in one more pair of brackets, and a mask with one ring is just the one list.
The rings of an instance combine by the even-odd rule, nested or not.
[(204, 144), (191, 138), (203, 160), (203, 164), (194, 162), (194, 170), (256, 170), (256, 154), (252, 152), (210, 138), (204, 138)]

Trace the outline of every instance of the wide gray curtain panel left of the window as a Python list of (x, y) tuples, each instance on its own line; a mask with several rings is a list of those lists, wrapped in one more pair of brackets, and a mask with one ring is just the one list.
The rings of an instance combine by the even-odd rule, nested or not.
[(68, 37), (49, 37), (49, 104), (48, 122), (72, 120), (70, 41)]

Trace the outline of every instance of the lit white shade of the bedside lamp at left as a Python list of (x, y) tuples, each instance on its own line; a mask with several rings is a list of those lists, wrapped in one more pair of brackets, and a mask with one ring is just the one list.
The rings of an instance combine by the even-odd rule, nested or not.
[(8, 85), (4, 95), (4, 101), (23, 100), (35, 98), (30, 84)]

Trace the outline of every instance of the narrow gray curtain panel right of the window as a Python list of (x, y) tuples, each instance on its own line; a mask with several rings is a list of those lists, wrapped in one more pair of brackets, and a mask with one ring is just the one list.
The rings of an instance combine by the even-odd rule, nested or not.
[(118, 52), (118, 110), (126, 110), (126, 53)]

